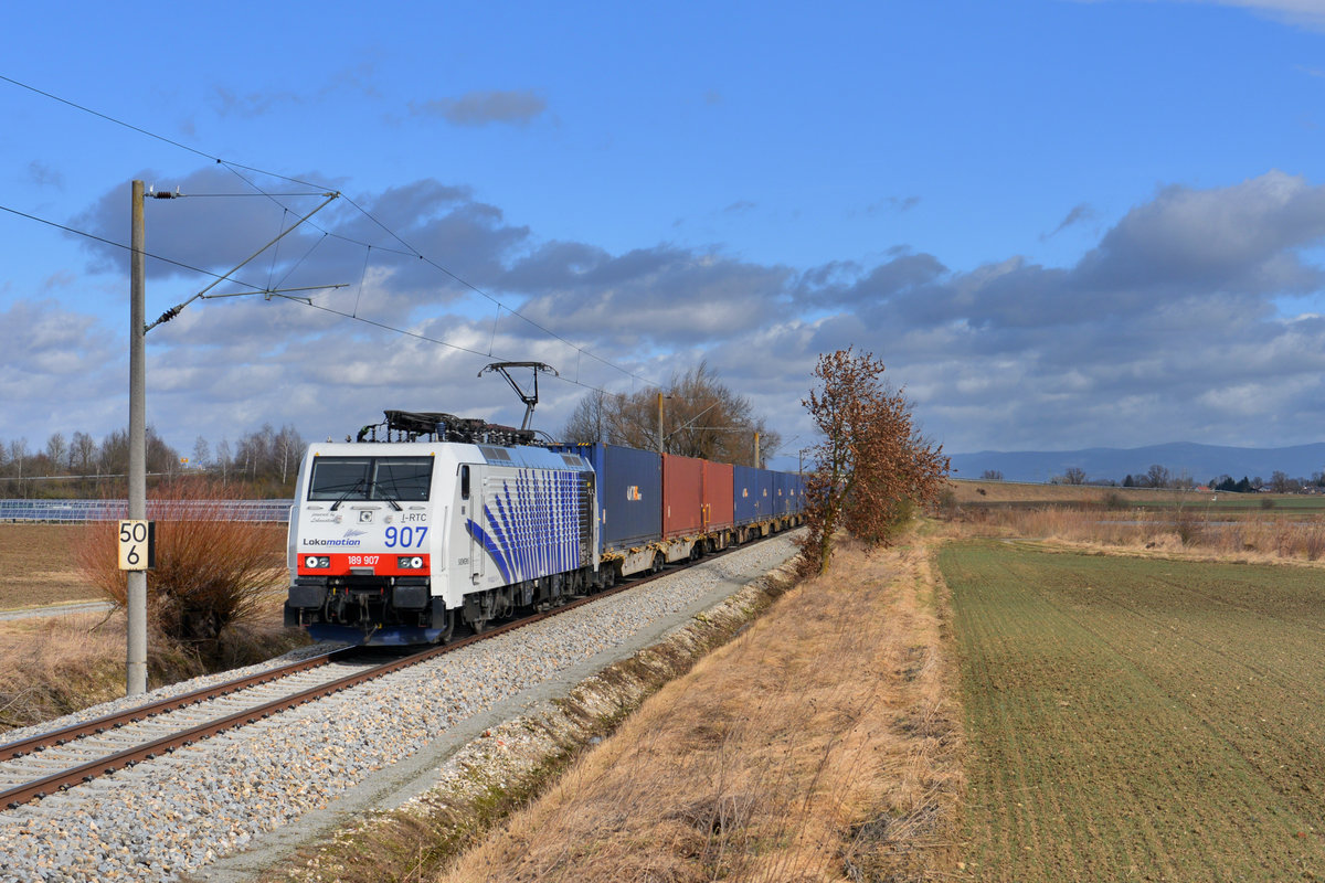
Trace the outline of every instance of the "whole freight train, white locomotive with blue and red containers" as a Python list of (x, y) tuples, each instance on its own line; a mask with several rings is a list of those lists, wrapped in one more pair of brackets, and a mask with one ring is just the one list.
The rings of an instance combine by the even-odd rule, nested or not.
[[(382, 438), (379, 438), (379, 434)], [(796, 473), (386, 412), (314, 443), (290, 510), (285, 624), (436, 643), (795, 527)]]

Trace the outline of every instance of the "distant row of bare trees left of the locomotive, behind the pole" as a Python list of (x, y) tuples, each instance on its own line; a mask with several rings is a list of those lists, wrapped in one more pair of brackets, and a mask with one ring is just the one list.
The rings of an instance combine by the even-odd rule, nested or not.
[[(303, 438), (294, 426), (280, 430), (264, 424), (233, 445), (223, 438), (213, 451), (199, 436), (183, 454), (147, 428), (148, 486), (186, 475), (207, 475), (233, 487), (236, 498), (276, 499), (294, 492)], [(40, 450), (26, 438), (0, 443), (0, 496), (95, 499), (125, 496), (129, 473), (129, 430), (118, 429), (99, 442), (83, 432), (53, 433)]]

